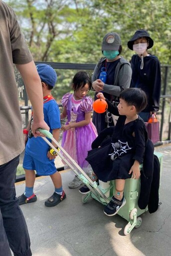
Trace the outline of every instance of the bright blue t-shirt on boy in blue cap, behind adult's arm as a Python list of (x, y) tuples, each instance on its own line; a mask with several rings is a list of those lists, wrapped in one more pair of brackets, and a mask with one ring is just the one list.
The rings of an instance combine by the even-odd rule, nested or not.
[[(60, 124), (60, 110), (58, 104), (54, 99), (51, 99), (43, 104), (44, 121), (50, 127), (50, 132), (53, 129), (61, 127)], [(49, 141), (51, 141), (49, 139)], [(28, 137), (28, 141), (25, 146), (25, 152), (37, 160), (48, 163), (47, 151), (49, 145), (41, 137)]]

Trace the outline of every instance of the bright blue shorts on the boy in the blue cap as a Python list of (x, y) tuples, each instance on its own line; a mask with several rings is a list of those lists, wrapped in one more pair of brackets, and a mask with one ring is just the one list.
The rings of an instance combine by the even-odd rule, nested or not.
[(24, 159), (23, 159), (23, 164), (22, 164), (24, 169), (27, 170), (36, 170), (36, 173), (39, 176), (47, 176), (55, 173), (57, 171), (53, 160), (49, 160), (48, 163), (41, 162), (31, 155), (27, 154), (25, 152), (24, 154)]

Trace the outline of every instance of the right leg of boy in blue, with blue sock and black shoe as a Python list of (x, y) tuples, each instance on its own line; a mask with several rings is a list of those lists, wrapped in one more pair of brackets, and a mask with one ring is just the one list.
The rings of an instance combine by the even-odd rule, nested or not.
[(62, 188), (62, 179), (58, 171), (50, 175), (55, 187), (54, 193), (44, 202), (45, 206), (52, 207), (66, 198), (66, 194)]

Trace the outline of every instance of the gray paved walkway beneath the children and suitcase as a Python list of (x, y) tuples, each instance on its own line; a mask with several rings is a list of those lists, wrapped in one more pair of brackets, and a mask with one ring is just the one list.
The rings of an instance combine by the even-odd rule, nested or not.
[[(142, 224), (124, 235), (127, 220), (103, 213), (103, 204), (90, 198), (81, 203), (78, 188), (69, 189), (72, 171), (62, 171), (67, 198), (55, 207), (44, 206), (53, 193), (49, 177), (35, 182), (37, 201), (21, 205), (31, 239), (33, 256), (166, 256), (171, 255), (171, 144), (155, 148), (164, 154), (160, 201), (153, 214), (141, 215)], [(24, 190), (16, 183), (16, 193)]]

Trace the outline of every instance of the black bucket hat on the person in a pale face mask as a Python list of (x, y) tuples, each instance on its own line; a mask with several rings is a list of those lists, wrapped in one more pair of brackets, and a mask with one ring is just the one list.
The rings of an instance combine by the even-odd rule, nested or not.
[(140, 29), (140, 30), (137, 30), (135, 32), (135, 34), (133, 35), (133, 37), (128, 41), (128, 43), (127, 43), (128, 44), (128, 48), (133, 50), (134, 41), (137, 40), (140, 37), (148, 37), (148, 39), (149, 39), (149, 41), (148, 41), (149, 42), (149, 46), (147, 48), (150, 49), (150, 48), (153, 47), (154, 41), (150, 37), (150, 34), (148, 33), (148, 31), (146, 31), (144, 29)]

